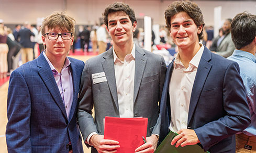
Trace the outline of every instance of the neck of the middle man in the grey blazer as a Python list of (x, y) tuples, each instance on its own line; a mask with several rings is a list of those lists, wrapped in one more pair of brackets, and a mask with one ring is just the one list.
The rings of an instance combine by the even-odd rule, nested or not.
[(113, 44), (114, 51), (117, 55), (117, 57), (121, 60), (125, 60), (125, 56), (128, 54), (131, 54), (131, 50), (133, 47), (133, 42), (132, 43), (125, 43), (125, 44)]

